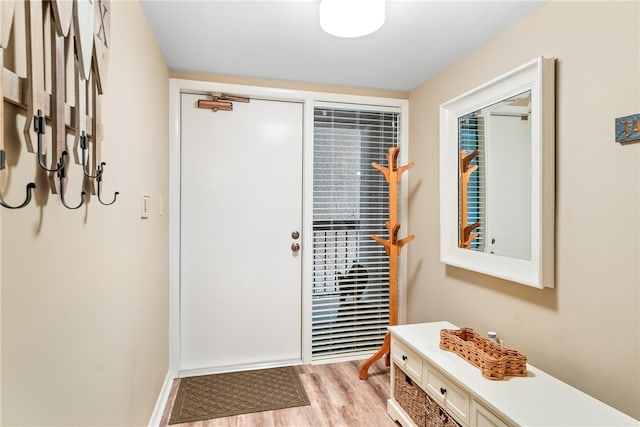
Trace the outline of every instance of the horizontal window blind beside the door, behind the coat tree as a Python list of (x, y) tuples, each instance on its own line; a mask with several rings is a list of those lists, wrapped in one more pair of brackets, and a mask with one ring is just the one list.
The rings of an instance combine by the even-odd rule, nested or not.
[(389, 323), (386, 166), (397, 112), (316, 108), (313, 167), (312, 357), (371, 353)]

